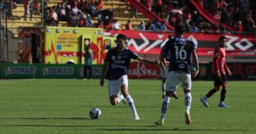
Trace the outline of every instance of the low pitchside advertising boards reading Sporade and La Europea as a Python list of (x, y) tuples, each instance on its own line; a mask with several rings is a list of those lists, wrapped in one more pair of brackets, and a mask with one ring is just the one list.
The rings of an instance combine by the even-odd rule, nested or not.
[[(256, 80), (256, 63), (227, 63), (232, 76), (228, 80)], [(211, 80), (212, 63), (200, 63), (200, 73), (193, 80)], [(100, 78), (102, 65), (93, 65), (93, 78)], [(132, 62), (129, 67), (129, 78), (157, 79), (163, 73), (156, 65), (144, 65)], [(194, 69), (194, 67), (192, 67)], [(0, 78), (83, 78), (83, 65), (43, 64), (43, 63), (1, 63)]]

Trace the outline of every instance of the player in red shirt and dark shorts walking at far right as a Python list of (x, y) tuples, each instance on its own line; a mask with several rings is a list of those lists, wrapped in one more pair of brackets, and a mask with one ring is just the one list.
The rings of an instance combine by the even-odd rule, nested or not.
[(209, 107), (207, 103), (207, 99), (211, 97), (214, 93), (221, 90), (221, 101), (219, 103), (219, 107), (229, 107), (228, 105), (224, 104), (224, 99), (226, 96), (226, 88), (227, 88), (227, 80), (226, 80), (226, 73), (231, 76), (231, 72), (228, 69), (228, 65), (226, 65), (226, 52), (225, 52), (225, 46), (226, 46), (226, 37), (221, 36), (219, 38), (219, 45), (215, 48), (214, 54), (213, 54), (213, 66), (211, 68), (211, 73), (213, 75), (214, 80), (214, 87), (212, 90), (210, 90), (204, 97), (201, 97), (200, 101), (203, 103), (205, 107)]

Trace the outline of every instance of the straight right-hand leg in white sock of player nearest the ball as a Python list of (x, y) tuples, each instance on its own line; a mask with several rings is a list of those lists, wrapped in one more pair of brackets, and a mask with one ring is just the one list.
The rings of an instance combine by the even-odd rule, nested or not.
[(131, 111), (133, 112), (133, 118), (135, 120), (140, 120), (139, 115), (136, 110), (136, 107), (135, 107), (135, 103), (133, 101), (133, 97), (131, 97), (131, 95), (129, 95), (127, 75), (121, 76), (121, 78), (119, 80), (119, 84), (121, 85), (121, 93), (123, 93), (123, 97), (125, 97), (128, 105), (131, 108)]

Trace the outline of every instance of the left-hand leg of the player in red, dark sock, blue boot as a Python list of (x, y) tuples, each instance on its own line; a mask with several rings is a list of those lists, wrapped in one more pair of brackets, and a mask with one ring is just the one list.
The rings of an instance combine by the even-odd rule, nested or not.
[(211, 89), (205, 96), (200, 98), (200, 101), (203, 103), (205, 107), (209, 107), (209, 104), (207, 102), (207, 99), (211, 97), (214, 93), (220, 90), (221, 85), (222, 85), (222, 80), (219, 78), (217, 75), (213, 75), (213, 81), (214, 81), (214, 87)]

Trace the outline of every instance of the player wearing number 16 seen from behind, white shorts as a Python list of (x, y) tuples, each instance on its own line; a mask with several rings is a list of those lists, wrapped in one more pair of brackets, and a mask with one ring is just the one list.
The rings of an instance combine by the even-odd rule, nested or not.
[(163, 103), (161, 105), (160, 120), (158, 120), (158, 122), (155, 122), (157, 126), (163, 126), (164, 117), (170, 103), (170, 98), (177, 90), (177, 86), (180, 82), (185, 95), (185, 122), (187, 125), (190, 125), (191, 122), (191, 54), (194, 64), (196, 66), (196, 71), (192, 73), (193, 76), (198, 75), (199, 66), (198, 56), (196, 54), (196, 45), (194, 44), (194, 42), (183, 38), (184, 32), (184, 25), (177, 25), (175, 27), (175, 38), (167, 41), (165, 46), (163, 46), (161, 50), (160, 61), (163, 64), (163, 67), (165, 67), (165, 57), (167, 56), (168, 52), (170, 54), (169, 62), (171, 65), (169, 66), (169, 72), (167, 74), (165, 97), (163, 98)]

